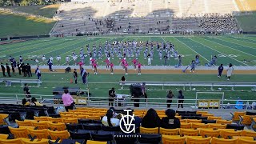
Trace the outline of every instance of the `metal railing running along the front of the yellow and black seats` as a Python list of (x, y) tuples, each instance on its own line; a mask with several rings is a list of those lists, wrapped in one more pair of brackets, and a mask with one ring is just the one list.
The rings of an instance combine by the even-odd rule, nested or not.
[[(54, 105), (54, 95), (42, 95), (42, 94), (31, 94), (32, 97), (38, 98), (39, 102), (42, 104), (52, 104)], [(2, 94), (0, 93), (0, 103), (21, 103), (22, 99), (25, 98), (24, 94)], [(108, 106), (109, 99), (108, 97), (78, 97), (81, 99), (86, 99), (86, 106)], [(126, 107), (126, 106), (134, 106), (134, 100), (137, 99), (139, 102), (136, 102), (140, 105), (140, 107), (166, 107), (167, 102), (166, 98), (112, 98), (114, 99), (114, 106)], [(191, 107), (191, 108), (198, 108), (198, 101), (202, 100), (202, 98), (195, 98), (195, 99), (178, 99), (172, 98), (173, 102), (171, 103), (172, 107), (178, 108), (178, 100), (184, 100), (183, 106), (184, 107)], [(207, 99), (206, 99), (207, 100)], [(236, 102), (238, 100), (229, 100), (229, 99), (219, 99), (219, 107), (223, 109), (224, 107), (230, 106), (232, 109), (234, 106), (238, 105)], [(252, 102), (255, 100), (239, 100), (242, 102), (242, 106), (245, 106), (247, 109)], [(56, 104), (57, 106), (62, 106), (62, 104)], [(55, 105), (55, 106), (56, 106)], [(84, 104), (76, 104), (76, 105), (84, 105)]]

